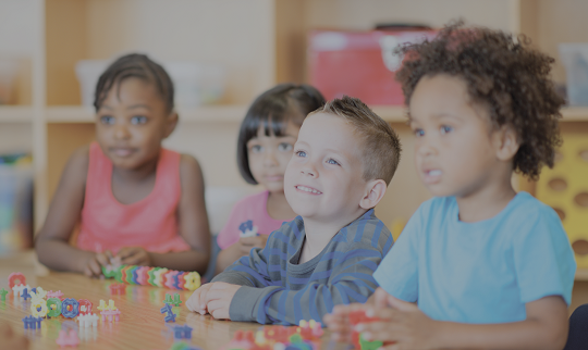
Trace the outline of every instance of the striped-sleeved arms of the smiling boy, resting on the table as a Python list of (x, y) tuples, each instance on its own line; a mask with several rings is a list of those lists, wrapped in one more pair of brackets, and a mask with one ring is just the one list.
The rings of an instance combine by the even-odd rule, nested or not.
[[(271, 248), (271, 242), (268, 241), (264, 251), (269, 254)], [(249, 258), (255, 258), (256, 251), (259, 250), (252, 250)], [(231, 265), (228, 272), (215, 278), (216, 282), (242, 285), (234, 295), (225, 293), (230, 295), (231, 299), (236, 298), (240, 302), (231, 304), (231, 299), (221, 300), (225, 295), (208, 292), (204, 303), (207, 303), (208, 312), (211, 312), (210, 303), (212, 302), (216, 308), (228, 309), (231, 307), (232, 321), (292, 325), (297, 325), (301, 320), (321, 322), (322, 316), (330, 312), (335, 304), (365, 302), (368, 299), (368, 296), (377, 287), (371, 275), (381, 258), (381, 252), (371, 245), (355, 245), (342, 253), (340, 261), (330, 272), (328, 283), (310, 280), (298, 290), (284, 288), (280, 280), (275, 283), (268, 280), (266, 287), (261, 288), (238, 283), (237, 277), (245, 282), (256, 280), (261, 284), (262, 279), (259, 277), (262, 277), (264, 272), (267, 274), (268, 271), (267, 260), (256, 262), (253, 259), (242, 258), (238, 263)], [(320, 272), (318, 274), (320, 275)]]

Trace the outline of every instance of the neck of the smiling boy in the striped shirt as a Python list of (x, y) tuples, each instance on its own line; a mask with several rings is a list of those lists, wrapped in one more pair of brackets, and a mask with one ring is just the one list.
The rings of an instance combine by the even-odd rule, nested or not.
[(304, 230), (306, 234), (305, 249), (309, 252), (309, 258), (318, 255), (343, 227), (353, 223), (366, 213), (365, 209), (358, 208), (352, 215), (342, 215), (336, 218), (320, 220), (315, 217), (303, 217)]

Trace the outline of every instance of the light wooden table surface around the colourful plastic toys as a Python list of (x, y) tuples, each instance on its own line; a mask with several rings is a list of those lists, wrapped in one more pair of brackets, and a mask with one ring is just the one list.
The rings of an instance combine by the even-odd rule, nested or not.
[[(30, 340), (30, 349), (59, 349), (56, 339), (62, 328), (77, 330), (78, 349), (169, 349), (174, 343), (173, 325), (193, 327), (192, 340), (184, 340), (193, 347), (218, 350), (225, 346), (236, 330), (256, 330), (261, 325), (231, 321), (217, 321), (210, 316), (189, 312), (184, 303), (191, 295), (187, 290), (172, 290), (151, 286), (126, 286), (125, 295), (111, 295), (109, 285), (112, 279), (91, 279), (79, 274), (49, 272), (40, 273), (35, 267), (33, 252), (0, 258), (0, 288), (9, 289), (8, 275), (22, 272), (30, 287), (42, 287), (45, 290), (61, 290), (65, 298), (88, 299), (94, 304), (94, 313), (99, 300), (114, 305), (121, 311), (119, 322), (98, 321), (98, 327), (78, 327), (77, 318), (44, 320), (40, 329), (24, 329), (22, 318), (30, 315), (30, 300), (14, 298), (12, 291), (5, 301), (0, 301), (0, 321), (8, 321), (17, 334), (25, 334)], [(175, 323), (166, 323), (160, 313), (166, 293), (179, 292), (183, 301), (181, 307), (173, 308), (177, 314)], [(326, 329), (321, 338), (320, 349), (352, 349), (352, 346), (330, 341)], [(66, 349), (66, 348), (65, 348)]]

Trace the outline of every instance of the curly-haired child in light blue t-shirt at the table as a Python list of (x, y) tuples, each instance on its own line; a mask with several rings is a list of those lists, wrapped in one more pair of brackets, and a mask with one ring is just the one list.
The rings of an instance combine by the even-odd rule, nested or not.
[(511, 185), (513, 171), (536, 179), (553, 165), (564, 102), (553, 59), (460, 24), (399, 51), (416, 167), (434, 198), (375, 272), (373, 298), (326, 323), (348, 340), (348, 313), (367, 309), (381, 321), (355, 330), (384, 349), (562, 349), (574, 255), (558, 214)]

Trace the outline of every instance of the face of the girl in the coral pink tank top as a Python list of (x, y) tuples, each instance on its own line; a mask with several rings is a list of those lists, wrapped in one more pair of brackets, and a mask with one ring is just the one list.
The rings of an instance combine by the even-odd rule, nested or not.
[(96, 114), (96, 137), (115, 167), (135, 170), (157, 159), (161, 140), (175, 127), (156, 87), (127, 78), (108, 91)]

